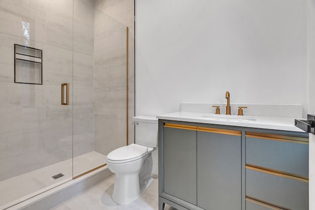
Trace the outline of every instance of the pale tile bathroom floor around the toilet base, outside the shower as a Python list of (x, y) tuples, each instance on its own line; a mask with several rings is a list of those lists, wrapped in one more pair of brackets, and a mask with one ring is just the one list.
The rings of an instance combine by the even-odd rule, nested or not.
[[(129, 205), (116, 204), (111, 195), (115, 175), (87, 189), (83, 193), (63, 202), (52, 210), (158, 210), (158, 179), (151, 187)], [(165, 210), (176, 210), (165, 205)]]

